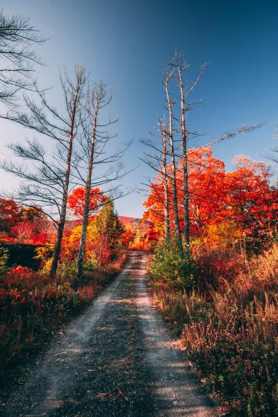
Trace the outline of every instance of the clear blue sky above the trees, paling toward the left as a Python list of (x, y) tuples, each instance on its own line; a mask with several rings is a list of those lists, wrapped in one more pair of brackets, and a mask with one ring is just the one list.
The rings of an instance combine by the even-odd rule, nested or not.
[[(149, 171), (138, 160), (140, 138), (147, 138), (163, 115), (161, 74), (165, 58), (178, 49), (191, 64), (209, 63), (195, 92), (204, 99), (189, 115), (190, 127), (214, 138), (240, 124), (265, 126), (215, 146), (229, 170), (236, 154), (258, 160), (270, 153), (278, 121), (278, 1), (276, 0), (3, 0), (6, 14), (28, 16), (50, 38), (39, 52), (47, 63), (38, 71), (44, 86), (57, 83), (57, 68), (85, 66), (92, 79), (113, 91), (111, 112), (120, 117), (118, 141), (133, 140), (126, 165), (139, 167), (124, 180), (140, 186)], [(55, 102), (55, 88), (51, 92)], [(28, 137), (26, 130), (0, 120), (4, 145)], [(199, 142), (199, 143), (202, 143)], [(196, 145), (192, 143), (192, 145)], [(17, 182), (0, 173), (2, 186)], [(2, 187), (1, 187), (2, 188)], [(117, 201), (120, 215), (142, 215), (144, 197)]]

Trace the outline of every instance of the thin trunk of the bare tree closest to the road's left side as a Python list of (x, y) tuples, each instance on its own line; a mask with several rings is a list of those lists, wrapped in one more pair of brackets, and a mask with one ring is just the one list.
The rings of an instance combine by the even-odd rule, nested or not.
[(89, 163), (88, 163), (88, 172), (87, 172), (87, 181), (85, 185), (85, 202), (84, 202), (84, 214), (83, 214), (83, 223), (82, 223), (82, 232), (81, 232), (81, 239), (79, 245), (79, 256), (77, 260), (77, 276), (79, 278), (83, 275), (84, 270), (84, 255), (85, 255), (85, 245), (86, 245), (86, 237), (87, 237), (87, 229), (88, 229), (88, 222), (89, 222), (89, 213), (90, 213), (90, 191), (91, 191), (91, 184), (92, 184), (92, 166), (94, 162), (94, 154), (95, 154), (95, 138), (96, 138), (96, 130), (97, 130), (97, 114), (99, 112), (99, 103), (97, 103), (97, 107), (95, 110), (94, 122), (92, 125), (92, 142), (91, 142), (91, 149), (90, 149), (90, 156), (89, 156)]

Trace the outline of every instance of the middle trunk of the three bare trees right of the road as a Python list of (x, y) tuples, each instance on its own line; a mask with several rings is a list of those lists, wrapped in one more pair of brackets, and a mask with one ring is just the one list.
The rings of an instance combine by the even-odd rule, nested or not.
[(169, 91), (168, 91), (168, 81), (172, 76), (171, 73), (168, 73), (165, 80), (165, 93), (167, 99), (167, 106), (169, 109), (169, 128), (168, 136), (170, 140), (170, 152), (171, 152), (171, 164), (172, 164), (172, 195), (173, 195), (173, 208), (174, 208), (174, 228), (176, 231), (177, 245), (179, 248), (179, 254), (183, 256), (183, 245), (181, 240), (181, 227), (179, 225), (179, 211), (178, 211), (178, 201), (177, 201), (177, 176), (176, 176), (176, 158), (174, 153), (174, 137), (173, 137), (173, 113), (172, 113), (172, 103), (170, 101)]

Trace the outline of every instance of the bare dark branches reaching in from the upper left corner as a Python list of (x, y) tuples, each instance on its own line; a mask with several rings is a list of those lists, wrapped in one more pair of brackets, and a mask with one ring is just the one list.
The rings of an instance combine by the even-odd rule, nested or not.
[(22, 90), (33, 90), (34, 64), (41, 64), (33, 51), (45, 41), (28, 19), (6, 16), (0, 11), (0, 102), (8, 108), (15, 105)]

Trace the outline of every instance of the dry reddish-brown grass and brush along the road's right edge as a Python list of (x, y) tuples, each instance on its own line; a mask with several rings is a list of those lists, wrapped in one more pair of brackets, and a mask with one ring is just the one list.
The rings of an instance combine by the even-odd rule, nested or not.
[(228, 257), (229, 263), (224, 253), (195, 259), (195, 288), (185, 291), (152, 274), (154, 255), (149, 286), (208, 392), (234, 416), (277, 416), (278, 246), (250, 260)]

